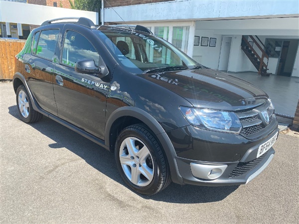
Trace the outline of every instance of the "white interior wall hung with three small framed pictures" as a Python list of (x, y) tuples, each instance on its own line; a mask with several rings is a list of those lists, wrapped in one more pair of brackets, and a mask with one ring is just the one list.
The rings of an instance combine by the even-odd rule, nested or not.
[[(218, 69), (221, 48), (221, 35), (215, 35), (211, 30), (195, 30), (195, 36), (199, 36), (199, 46), (193, 47), (193, 59), (209, 68)], [(216, 47), (200, 46), (202, 37), (216, 38)], [(210, 42), (210, 39), (209, 39)]]

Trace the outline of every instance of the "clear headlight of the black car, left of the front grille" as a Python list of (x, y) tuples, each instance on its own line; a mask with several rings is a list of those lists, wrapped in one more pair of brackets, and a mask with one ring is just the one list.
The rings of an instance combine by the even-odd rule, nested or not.
[(240, 133), (242, 125), (234, 112), (180, 107), (190, 124), (212, 130)]

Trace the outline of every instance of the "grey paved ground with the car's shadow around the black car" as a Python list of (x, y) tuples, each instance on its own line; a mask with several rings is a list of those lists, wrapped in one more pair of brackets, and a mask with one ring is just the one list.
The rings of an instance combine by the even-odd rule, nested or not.
[(247, 185), (171, 184), (143, 197), (114, 157), (43, 118), (18, 119), (11, 83), (0, 84), (0, 223), (298, 223), (299, 138), (281, 134), (269, 167)]

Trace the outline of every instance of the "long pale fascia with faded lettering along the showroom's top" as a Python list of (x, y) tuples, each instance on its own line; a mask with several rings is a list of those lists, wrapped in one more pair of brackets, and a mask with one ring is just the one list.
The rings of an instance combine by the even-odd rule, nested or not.
[[(257, 17), (299, 13), (298, 0), (175, 0), (114, 7), (125, 21)], [(105, 8), (105, 22), (122, 22), (111, 8)]]

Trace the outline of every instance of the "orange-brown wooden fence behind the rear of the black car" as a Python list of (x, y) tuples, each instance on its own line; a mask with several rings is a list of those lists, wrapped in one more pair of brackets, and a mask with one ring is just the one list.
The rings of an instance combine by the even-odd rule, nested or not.
[(25, 40), (0, 39), (0, 79), (12, 79), (15, 55), (25, 45)]

